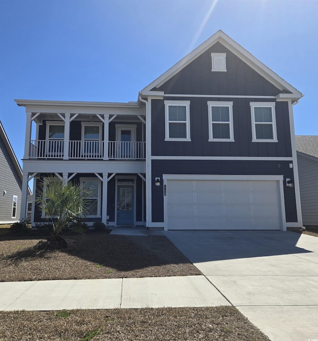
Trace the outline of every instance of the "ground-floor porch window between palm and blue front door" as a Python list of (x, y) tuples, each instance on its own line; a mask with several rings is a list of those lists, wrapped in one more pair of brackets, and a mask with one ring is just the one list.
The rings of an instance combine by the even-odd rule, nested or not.
[(86, 217), (100, 216), (100, 181), (94, 178), (81, 178), (80, 185), (84, 191), (88, 191), (85, 194)]

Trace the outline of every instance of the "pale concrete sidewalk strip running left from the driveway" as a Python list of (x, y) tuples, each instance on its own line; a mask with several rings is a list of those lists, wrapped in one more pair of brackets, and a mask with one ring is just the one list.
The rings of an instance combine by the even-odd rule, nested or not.
[(0, 310), (231, 305), (202, 275), (0, 282)]

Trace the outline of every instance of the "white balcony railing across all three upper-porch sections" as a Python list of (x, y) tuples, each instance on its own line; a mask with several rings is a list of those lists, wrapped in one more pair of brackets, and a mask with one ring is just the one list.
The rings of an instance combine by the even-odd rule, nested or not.
[[(101, 159), (101, 160), (144, 160), (146, 142), (85, 140), (69, 141), (69, 154), (64, 153), (64, 140), (30, 140), (30, 159)], [(104, 148), (108, 146), (108, 155)], [(106, 151), (107, 154), (107, 151)]]

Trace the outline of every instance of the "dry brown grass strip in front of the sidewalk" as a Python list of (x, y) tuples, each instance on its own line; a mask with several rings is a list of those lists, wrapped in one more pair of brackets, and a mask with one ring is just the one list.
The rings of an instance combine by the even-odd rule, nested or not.
[(10, 341), (269, 341), (234, 307), (0, 312)]

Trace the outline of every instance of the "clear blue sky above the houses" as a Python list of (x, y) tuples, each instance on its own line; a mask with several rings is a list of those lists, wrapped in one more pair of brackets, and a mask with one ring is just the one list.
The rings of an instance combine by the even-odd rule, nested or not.
[(318, 0), (0, 0), (0, 120), (23, 157), (14, 99), (128, 102), (219, 29), (305, 94), (318, 135)]

